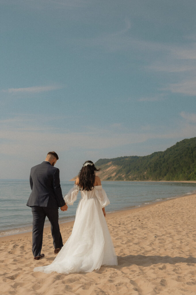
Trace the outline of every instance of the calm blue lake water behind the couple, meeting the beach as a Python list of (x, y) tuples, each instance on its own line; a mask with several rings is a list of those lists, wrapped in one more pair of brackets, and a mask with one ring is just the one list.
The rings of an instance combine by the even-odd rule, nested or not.
[[(102, 181), (110, 200), (106, 212), (144, 206), (152, 202), (196, 193), (196, 183), (148, 182), (148, 181)], [(63, 195), (73, 187), (72, 181), (61, 182)], [(26, 206), (31, 193), (28, 180), (0, 180), (0, 237), (32, 230), (31, 208)], [(68, 206), (67, 212), (59, 210), (59, 221), (74, 220), (80, 200)], [(47, 220), (45, 226), (50, 223)]]

